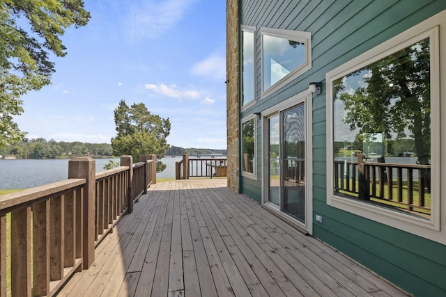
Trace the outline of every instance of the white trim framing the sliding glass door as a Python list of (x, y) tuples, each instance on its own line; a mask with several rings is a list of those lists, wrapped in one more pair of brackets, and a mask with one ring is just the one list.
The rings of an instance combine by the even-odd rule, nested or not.
[[(305, 209), (305, 224), (302, 224), (295, 218), (285, 214), (282, 211), (279, 211), (279, 208), (270, 204), (266, 201), (266, 185), (268, 184), (268, 178), (266, 172), (268, 171), (268, 157), (264, 156), (264, 152), (268, 152), (268, 141), (266, 140), (266, 136), (268, 135), (268, 125), (267, 118), (270, 118), (272, 115), (279, 114), (281, 111), (285, 111), (286, 109), (290, 109), (291, 107), (305, 103), (305, 125), (307, 126), (307, 131), (305, 132), (305, 138), (307, 145), (305, 146), (305, 159), (308, 161), (307, 170), (305, 172), (305, 176), (308, 178), (305, 179), (305, 195), (307, 195), (307, 209)], [(284, 220), (288, 221), (292, 225), (299, 227), (300, 229), (306, 230), (309, 234), (313, 234), (313, 102), (312, 102), (312, 92), (308, 89), (303, 90), (301, 93), (293, 95), (282, 102), (279, 102), (275, 106), (262, 111), (262, 158), (261, 158), (261, 182), (262, 182), (262, 199), (261, 204), (263, 207), (274, 211), (275, 214), (284, 218)]]

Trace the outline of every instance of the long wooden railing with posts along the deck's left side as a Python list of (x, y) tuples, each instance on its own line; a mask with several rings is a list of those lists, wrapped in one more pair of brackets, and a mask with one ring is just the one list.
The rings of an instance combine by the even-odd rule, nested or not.
[(0, 296), (53, 295), (89, 268), (95, 246), (156, 183), (156, 156), (139, 161), (122, 156), (121, 167), (95, 173), (93, 159), (74, 158), (68, 179), (1, 195)]

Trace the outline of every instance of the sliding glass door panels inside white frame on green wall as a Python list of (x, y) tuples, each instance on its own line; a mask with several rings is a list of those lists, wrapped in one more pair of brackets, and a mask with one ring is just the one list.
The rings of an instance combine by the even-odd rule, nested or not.
[(306, 114), (305, 102), (284, 109), (265, 120), (266, 199), (270, 207), (305, 224)]

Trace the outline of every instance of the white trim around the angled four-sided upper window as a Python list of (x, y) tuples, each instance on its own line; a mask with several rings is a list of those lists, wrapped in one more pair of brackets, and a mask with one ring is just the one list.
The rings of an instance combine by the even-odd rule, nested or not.
[[(303, 32), (303, 31), (292, 31), (292, 30), (284, 30), (284, 29), (272, 29), (272, 28), (265, 28), (261, 27), (260, 29), (261, 33), (261, 74), (262, 74), (262, 95), (261, 99), (268, 97), (272, 93), (275, 93), (275, 91), (279, 90), (283, 86), (285, 86), (287, 83), (290, 83), (295, 79), (296, 77), (299, 77), (304, 72), (307, 72), (312, 68), (312, 33), (310, 32)], [(263, 35), (270, 35), (274, 37), (279, 38), (286, 38), (289, 40), (295, 40), (305, 43), (305, 62), (300, 65), (298, 68), (290, 72), (286, 77), (283, 77), (277, 83), (273, 84), (268, 88), (267, 90), (263, 90)]]

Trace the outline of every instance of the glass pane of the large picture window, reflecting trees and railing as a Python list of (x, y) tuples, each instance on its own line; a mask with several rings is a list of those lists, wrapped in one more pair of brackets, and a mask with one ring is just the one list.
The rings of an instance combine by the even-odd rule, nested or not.
[(431, 214), (429, 38), (333, 82), (334, 192)]

